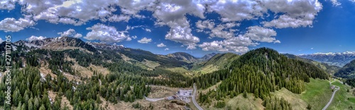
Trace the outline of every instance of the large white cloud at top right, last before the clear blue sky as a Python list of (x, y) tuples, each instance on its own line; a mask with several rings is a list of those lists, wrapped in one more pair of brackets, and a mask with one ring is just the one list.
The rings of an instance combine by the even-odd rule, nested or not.
[(283, 13), (279, 18), (270, 22), (263, 21), (266, 27), (306, 27), (312, 26), (317, 13), (322, 10), (322, 4), (317, 0), (311, 1), (262, 1), (264, 10)]

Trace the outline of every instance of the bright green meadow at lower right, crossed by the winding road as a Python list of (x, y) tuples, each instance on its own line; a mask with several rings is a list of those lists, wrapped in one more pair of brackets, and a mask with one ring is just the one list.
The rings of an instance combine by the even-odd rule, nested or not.
[[(333, 82), (333, 85), (339, 86), (341, 89), (334, 96), (332, 104), (328, 109), (348, 109), (349, 106), (355, 107), (355, 97), (351, 93), (346, 92), (351, 87), (342, 85), (340, 82)], [(293, 94), (285, 88), (274, 92), (275, 96), (283, 97), (293, 109), (305, 109), (307, 104), (312, 106), (312, 109), (323, 109), (332, 97), (332, 90), (329, 89), (328, 80), (310, 79), (309, 83), (305, 83), (306, 90), (302, 94)], [(349, 97), (349, 100), (347, 99)], [(340, 102), (339, 102), (340, 101)]]

